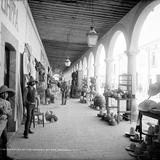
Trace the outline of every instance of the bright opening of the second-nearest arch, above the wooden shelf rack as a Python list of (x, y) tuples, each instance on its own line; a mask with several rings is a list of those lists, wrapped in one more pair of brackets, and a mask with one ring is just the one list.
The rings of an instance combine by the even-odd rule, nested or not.
[[(118, 76), (123, 73), (127, 73), (127, 41), (125, 39), (125, 35), (121, 30), (117, 30), (110, 41), (107, 62), (110, 65), (110, 87), (117, 88), (118, 87)], [(118, 44), (119, 43), (119, 44)], [(121, 43), (121, 44), (120, 44)], [(124, 48), (121, 48), (124, 45)]]

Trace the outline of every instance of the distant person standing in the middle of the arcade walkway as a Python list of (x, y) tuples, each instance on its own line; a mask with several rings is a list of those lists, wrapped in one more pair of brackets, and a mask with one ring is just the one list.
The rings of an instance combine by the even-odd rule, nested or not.
[(66, 105), (67, 103), (67, 98), (68, 98), (68, 93), (69, 93), (69, 87), (67, 85), (66, 81), (62, 81), (61, 85), (61, 93), (62, 93), (62, 105)]

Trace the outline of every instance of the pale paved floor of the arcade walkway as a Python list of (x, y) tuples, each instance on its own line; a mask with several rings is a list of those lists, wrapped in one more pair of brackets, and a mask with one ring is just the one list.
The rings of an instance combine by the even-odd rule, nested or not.
[(8, 154), (18, 160), (132, 160), (125, 151), (130, 144), (124, 137), (130, 122), (109, 126), (101, 121), (95, 110), (78, 99), (69, 99), (66, 106), (55, 104), (40, 106), (41, 111), (53, 110), (58, 121), (36, 125), (29, 139), (23, 138), (22, 125), (11, 137)]

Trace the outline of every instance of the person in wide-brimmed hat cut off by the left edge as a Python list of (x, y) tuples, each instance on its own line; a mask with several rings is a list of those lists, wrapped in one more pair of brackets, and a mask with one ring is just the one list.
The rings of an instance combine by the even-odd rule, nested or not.
[(8, 98), (15, 95), (14, 90), (8, 88), (6, 85), (0, 87), (0, 159), (13, 160), (7, 156), (7, 119), (12, 115), (11, 103)]

